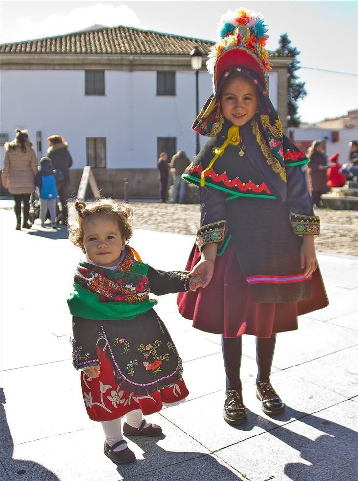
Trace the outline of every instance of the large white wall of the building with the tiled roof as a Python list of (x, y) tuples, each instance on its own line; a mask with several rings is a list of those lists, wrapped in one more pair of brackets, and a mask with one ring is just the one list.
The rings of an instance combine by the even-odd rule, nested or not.
[[(277, 73), (269, 74), (270, 97), (277, 108)], [(0, 131), (15, 128), (66, 139), (74, 168), (86, 165), (86, 137), (106, 137), (108, 168), (157, 165), (157, 137), (177, 137), (177, 148), (192, 158), (195, 150), (195, 74), (177, 71), (177, 95), (156, 95), (156, 72), (105, 72), (104, 96), (85, 95), (85, 72), (78, 70), (3, 70), (0, 72)], [(199, 74), (199, 108), (211, 93), (211, 77)], [(207, 138), (200, 136), (201, 146)], [(3, 147), (0, 147), (1, 166)]]

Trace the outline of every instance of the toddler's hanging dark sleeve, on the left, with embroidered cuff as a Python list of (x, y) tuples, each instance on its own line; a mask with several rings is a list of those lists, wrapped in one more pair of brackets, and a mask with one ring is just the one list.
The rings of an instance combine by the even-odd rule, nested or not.
[(99, 337), (99, 321), (80, 317), (73, 317), (72, 319), (73, 366), (76, 369), (97, 366), (99, 359), (97, 357), (96, 343)]

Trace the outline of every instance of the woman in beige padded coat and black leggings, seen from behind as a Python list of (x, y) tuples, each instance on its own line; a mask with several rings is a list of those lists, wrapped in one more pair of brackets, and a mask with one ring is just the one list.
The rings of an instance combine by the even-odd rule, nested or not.
[(29, 229), (30, 195), (35, 189), (37, 159), (27, 130), (16, 129), (15, 139), (5, 144), (2, 184), (14, 196), (16, 230), (20, 230), (21, 201), (23, 202), (22, 227)]

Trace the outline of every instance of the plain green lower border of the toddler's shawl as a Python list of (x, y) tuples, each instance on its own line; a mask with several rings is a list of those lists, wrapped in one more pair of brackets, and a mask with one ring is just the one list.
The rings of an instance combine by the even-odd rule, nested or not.
[(74, 284), (73, 292), (67, 299), (72, 316), (86, 319), (129, 320), (147, 312), (157, 304), (157, 300), (147, 299), (144, 302), (101, 302), (98, 295), (79, 284)]

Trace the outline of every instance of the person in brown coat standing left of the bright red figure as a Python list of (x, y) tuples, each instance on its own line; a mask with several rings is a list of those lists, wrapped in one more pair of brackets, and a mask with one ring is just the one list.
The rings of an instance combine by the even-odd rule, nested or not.
[(312, 196), (313, 206), (322, 207), (321, 195), (328, 191), (327, 182), (327, 156), (323, 150), (322, 140), (314, 140), (308, 148), (307, 157), (310, 162), (307, 165), (307, 176)]

